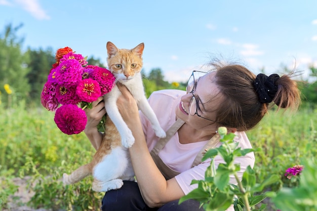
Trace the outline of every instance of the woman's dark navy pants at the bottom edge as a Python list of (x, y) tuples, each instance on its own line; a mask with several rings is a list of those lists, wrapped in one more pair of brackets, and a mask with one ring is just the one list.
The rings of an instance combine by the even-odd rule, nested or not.
[(124, 181), (124, 185), (117, 190), (106, 192), (102, 199), (103, 211), (203, 211), (199, 208), (199, 201), (186, 200), (178, 204), (178, 200), (171, 201), (159, 208), (148, 207), (139, 190), (138, 183)]

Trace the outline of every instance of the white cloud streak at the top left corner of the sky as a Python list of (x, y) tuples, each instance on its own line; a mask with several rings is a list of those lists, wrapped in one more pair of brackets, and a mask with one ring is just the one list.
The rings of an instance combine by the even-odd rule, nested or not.
[(42, 9), (37, 0), (15, 0), (16, 3), (21, 5), (24, 10), (29, 12), (33, 17), (38, 20), (49, 20), (50, 16)]

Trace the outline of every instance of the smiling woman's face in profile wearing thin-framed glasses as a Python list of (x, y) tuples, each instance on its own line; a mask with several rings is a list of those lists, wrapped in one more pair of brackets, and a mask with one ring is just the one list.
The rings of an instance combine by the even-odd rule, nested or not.
[(192, 92), (187, 90), (176, 107), (176, 116), (196, 130), (217, 130), (214, 119), (222, 99), (215, 83), (215, 74), (213, 71), (200, 78), (195, 77)]

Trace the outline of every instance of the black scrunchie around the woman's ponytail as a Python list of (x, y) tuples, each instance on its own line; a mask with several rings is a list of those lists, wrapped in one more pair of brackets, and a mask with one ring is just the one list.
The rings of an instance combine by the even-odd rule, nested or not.
[(261, 103), (272, 102), (279, 89), (279, 86), (275, 85), (275, 81), (279, 78), (280, 76), (278, 74), (271, 74), (270, 76), (267, 76), (260, 73), (256, 76), (254, 88)]

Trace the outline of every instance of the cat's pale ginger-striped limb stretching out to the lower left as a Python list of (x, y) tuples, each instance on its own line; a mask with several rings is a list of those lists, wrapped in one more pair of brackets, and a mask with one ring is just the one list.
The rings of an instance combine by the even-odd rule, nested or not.
[(81, 181), (85, 177), (92, 174), (92, 164), (88, 163), (86, 165), (82, 165), (73, 171), (70, 175), (66, 173), (63, 174), (63, 183), (64, 185), (74, 184), (76, 182)]

